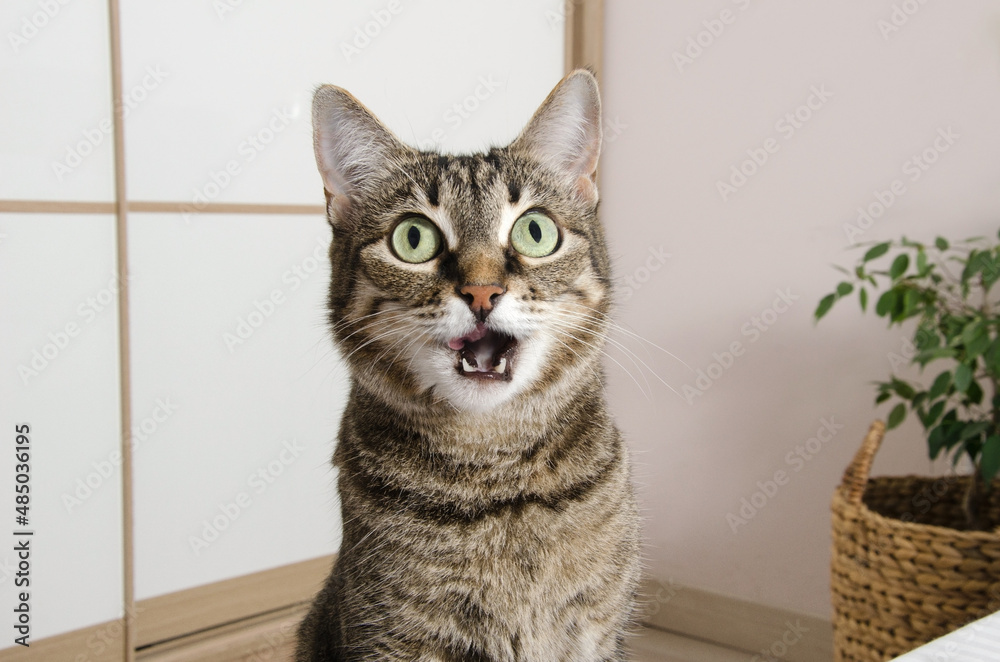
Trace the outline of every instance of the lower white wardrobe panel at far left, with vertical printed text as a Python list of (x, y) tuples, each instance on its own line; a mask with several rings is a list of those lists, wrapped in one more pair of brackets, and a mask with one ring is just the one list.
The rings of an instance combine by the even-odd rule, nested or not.
[(27, 423), (32, 641), (122, 615), (113, 246), (110, 216), (0, 216), (0, 609), (10, 621), (24, 590), (11, 532), (14, 426)]

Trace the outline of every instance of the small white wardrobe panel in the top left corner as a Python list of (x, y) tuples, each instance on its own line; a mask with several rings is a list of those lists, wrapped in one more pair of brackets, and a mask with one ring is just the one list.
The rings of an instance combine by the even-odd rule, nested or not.
[(0, 198), (114, 199), (108, 3), (4, 0), (0, 26)]

